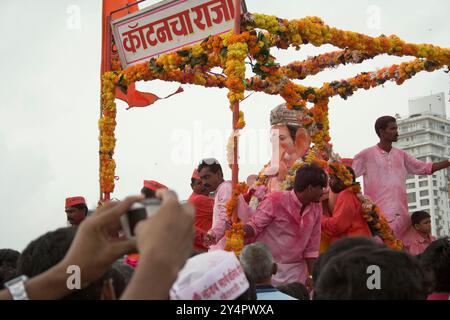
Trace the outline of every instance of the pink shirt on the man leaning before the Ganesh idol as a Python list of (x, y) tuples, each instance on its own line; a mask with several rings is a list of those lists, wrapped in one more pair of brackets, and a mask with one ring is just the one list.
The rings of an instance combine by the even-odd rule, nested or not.
[(320, 248), (322, 205), (303, 205), (294, 190), (269, 194), (248, 224), (255, 231), (255, 241), (265, 243), (278, 265), (274, 285), (301, 282), (307, 277), (306, 258), (317, 258)]

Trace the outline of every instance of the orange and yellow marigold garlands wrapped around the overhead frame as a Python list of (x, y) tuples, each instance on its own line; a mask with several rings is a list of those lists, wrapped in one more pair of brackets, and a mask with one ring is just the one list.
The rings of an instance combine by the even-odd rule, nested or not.
[[(359, 89), (370, 89), (387, 81), (398, 85), (422, 71), (432, 72), (450, 65), (450, 49), (431, 44), (412, 44), (395, 35), (369, 37), (364, 34), (342, 31), (326, 25), (318, 17), (306, 17), (299, 20), (280, 19), (264, 14), (246, 13), (241, 22), (240, 34), (230, 32), (220, 36), (211, 36), (202, 43), (185, 47), (176, 52), (152, 58), (146, 63), (120, 70), (106, 72), (102, 77), (102, 112), (100, 129), (100, 191), (101, 200), (109, 199), (114, 191), (115, 148), (114, 131), (116, 127), (115, 90), (126, 90), (136, 81), (164, 80), (201, 85), (204, 87), (228, 88), (230, 106), (244, 98), (245, 91), (265, 92), (280, 95), (286, 100), (288, 108), (304, 111), (308, 116), (304, 125), (320, 124), (312, 136), (316, 152), (330, 154), (330, 135), (328, 122), (329, 98), (339, 95), (343, 99)], [(280, 66), (270, 55), (270, 48), (300, 49), (303, 44), (321, 46), (332, 44), (340, 51), (321, 54), (304, 61)], [(363, 72), (346, 80), (324, 83), (320, 88), (304, 86), (293, 80), (304, 80), (327, 68), (341, 64), (361, 63), (380, 54), (393, 56), (412, 56), (416, 59), (400, 65)], [(249, 58), (254, 76), (245, 78), (245, 60)], [(223, 74), (213, 73), (214, 67), (223, 69)], [(314, 106), (307, 108), (307, 102)], [(234, 122), (234, 141), (238, 130), (244, 128), (244, 114)], [(229, 157), (230, 158), (230, 157)], [(229, 213), (234, 210), (236, 198), (242, 192), (242, 186), (235, 189), (229, 203)], [(375, 211), (374, 206), (371, 212)], [(379, 209), (378, 209), (379, 210)], [(369, 212), (369, 209), (368, 209)], [(235, 221), (236, 222), (236, 221)], [(378, 221), (377, 223), (385, 223)], [(387, 233), (392, 231), (387, 230)], [(234, 236), (233, 236), (234, 235)], [(239, 251), (243, 245), (242, 230), (239, 224), (233, 226), (227, 238), (233, 238), (228, 248)], [(392, 247), (401, 248), (401, 243), (390, 238), (385, 240)]]

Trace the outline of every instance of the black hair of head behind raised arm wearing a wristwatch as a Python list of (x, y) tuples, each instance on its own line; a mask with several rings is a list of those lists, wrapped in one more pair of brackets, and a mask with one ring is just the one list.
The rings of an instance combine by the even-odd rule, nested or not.
[[(37, 276), (58, 264), (65, 257), (77, 228), (67, 227), (47, 232), (31, 241), (23, 250), (17, 262), (17, 275), (29, 278)], [(110, 271), (108, 271), (110, 272)], [(73, 290), (63, 300), (98, 300), (101, 297), (103, 283), (110, 278), (106, 272), (102, 277), (81, 290)]]

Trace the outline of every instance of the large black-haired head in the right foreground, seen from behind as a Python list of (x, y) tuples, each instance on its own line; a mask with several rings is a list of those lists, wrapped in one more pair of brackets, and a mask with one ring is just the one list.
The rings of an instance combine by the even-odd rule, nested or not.
[[(371, 282), (377, 269), (379, 278)], [(314, 288), (317, 300), (425, 300), (427, 295), (427, 276), (415, 257), (375, 246), (333, 256)]]

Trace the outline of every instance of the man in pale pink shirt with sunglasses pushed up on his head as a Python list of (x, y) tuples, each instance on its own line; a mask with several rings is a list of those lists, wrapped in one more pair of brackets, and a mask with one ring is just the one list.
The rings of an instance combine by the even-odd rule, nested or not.
[[(227, 203), (231, 199), (233, 184), (223, 179), (222, 167), (216, 159), (203, 159), (197, 168), (203, 186), (214, 193), (212, 227), (206, 234), (205, 245), (209, 250), (225, 249), (227, 228)], [(238, 217), (246, 223), (250, 209), (243, 196), (238, 198)]]

